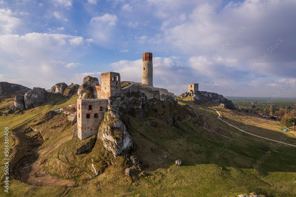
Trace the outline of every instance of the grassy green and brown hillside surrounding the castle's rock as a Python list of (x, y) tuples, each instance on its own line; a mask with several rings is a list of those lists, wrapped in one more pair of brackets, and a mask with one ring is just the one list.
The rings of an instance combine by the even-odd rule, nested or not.
[[(36, 135), (34, 132), (22, 133), (25, 128), (41, 121), (53, 107), (58, 109), (75, 104), (76, 99), (54, 96), (24, 114), (0, 116), (1, 126), (8, 126), (17, 143), (22, 144), (28, 136)], [(6, 108), (9, 102), (12, 101), (1, 102), (0, 109)], [(115, 159), (99, 139), (91, 152), (75, 155), (75, 149), (84, 142), (72, 139), (74, 127), (67, 121), (66, 115), (57, 115), (37, 125), (49, 139), (38, 138), (25, 148), (18, 146), (21, 147), (17, 149), (21, 149), (20, 152), (12, 152), (24, 157), (19, 159), (15, 169), (16, 180), (10, 181), (10, 193), (5, 193), (5, 196), (234, 197), (251, 192), (264, 196), (295, 196), (296, 147), (277, 146), (274, 141), (239, 132), (217, 119), (218, 114), (208, 108), (214, 106), (213, 103), (194, 105), (190, 99), (180, 99), (178, 103), (178, 109), (172, 109), (168, 103), (157, 101), (144, 120), (136, 119), (133, 112), (123, 110), (120, 119), (135, 146), (130, 155)], [(215, 109), (224, 120), (242, 130), (269, 139), (284, 137), (285, 143), (296, 143), (296, 134), (282, 132), (279, 122), (218, 107)], [(173, 124), (165, 120), (168, 112), (179, 114)], [(4, 138), (3, 130), (0, 138)], [(12, 138), (9, 142), (11, 145), (14, 143)], [(269, 153), (262, 151), (267, 149)], [(124, 170), (131, 167), (126, 158), (133, 155), (138, 156), (143, 169), (140, 171), (133, 166), (131, 177), (126, 177)], [(167, 159), (162, 159), (164, 155)], [(174, 165), (177, 159), (182, 160), (181, 167)], [(262, 164), (258, 163), (260, 160)], [(102, 169), (102, 174), (95, 177), (92, 164)], [(30, 165), (34, 170), (41, 166), (47, 172), (42, 175), (48, 177), (47, 183), (34, 183), (38, 176), (19, 181), (20, 169)], [(147, 176), (141, 172), (147, 172)], [(55, 187), (54, 183), (73, 187)]]

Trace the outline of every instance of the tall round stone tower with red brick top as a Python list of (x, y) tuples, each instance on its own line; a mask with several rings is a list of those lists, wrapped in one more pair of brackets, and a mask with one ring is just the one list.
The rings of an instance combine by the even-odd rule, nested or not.
[(143, 53), (142, 84), (153, 87), (152, 53)]

